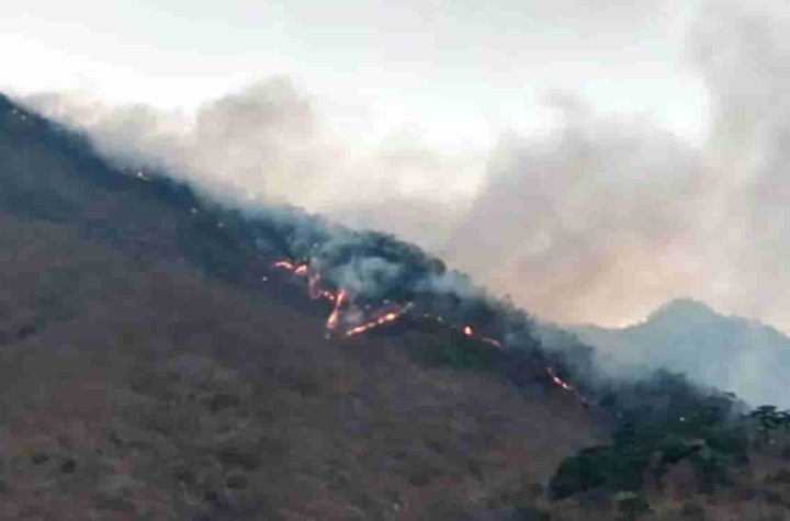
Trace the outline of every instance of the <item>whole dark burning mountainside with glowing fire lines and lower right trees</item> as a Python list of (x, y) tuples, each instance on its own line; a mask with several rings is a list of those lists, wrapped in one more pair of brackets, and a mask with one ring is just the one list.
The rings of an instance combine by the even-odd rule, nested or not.
[[(124, 167), (2, 95), (0, 268), (0, 519), (790, 511), (790, 438), (736, 397), (611, 378), (617, 349), (413, 245)], [(691, 315), (721, 332), (652, 320)]]

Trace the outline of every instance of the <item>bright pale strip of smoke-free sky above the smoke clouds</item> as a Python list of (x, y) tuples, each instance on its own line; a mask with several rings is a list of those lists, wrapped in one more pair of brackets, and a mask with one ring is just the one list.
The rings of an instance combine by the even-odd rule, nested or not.
[[(590, 7), (595, 4), (595, 7)], [(544, 128), (546, 91), (701, 134), (682, 63), (692, 9), (670, 0), (500, 2), (30, 0), (0, 5), (0, 82), (192, 107), (286, 75), (356, 131), (451, 149)]]

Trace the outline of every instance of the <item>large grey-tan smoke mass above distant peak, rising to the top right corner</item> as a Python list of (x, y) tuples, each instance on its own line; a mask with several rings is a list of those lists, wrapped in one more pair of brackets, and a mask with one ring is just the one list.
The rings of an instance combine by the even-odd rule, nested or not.
[(687, 295), (790, 331), (789, 12), (702, 4), (688, 38), (711, 98), (701, 147), (560, 97), (556, 134), (494, 154), (449, 258), (560, 321), (618, 325)]

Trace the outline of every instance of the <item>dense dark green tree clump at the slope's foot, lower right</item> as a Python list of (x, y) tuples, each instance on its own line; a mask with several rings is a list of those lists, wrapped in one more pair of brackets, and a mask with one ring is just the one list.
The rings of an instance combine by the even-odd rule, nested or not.
[(617, 424), (612, 442), (565, 460), (551, 480), (556, 499), (601, 489), (640, 490), (647, 479), (661, 485), (675, 464), (688, 461), (701, 487), (727, 482), (727, 467), (747, 455), (747, 432), (736, 398), (702, 390), (681, 375), (652, 377), (612, 387), (601, 404)]

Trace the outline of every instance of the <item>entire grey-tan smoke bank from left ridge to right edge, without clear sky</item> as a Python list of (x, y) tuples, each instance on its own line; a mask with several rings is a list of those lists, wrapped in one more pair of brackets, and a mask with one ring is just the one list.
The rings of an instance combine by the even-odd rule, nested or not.
[(691, 296), (788, 331), (790, 16), (776, 3), (702, 2), (688, 38), (711, 100), (702, 146), (554, 94), (556, 132), (503, 138), (476, 190), (479, 158), (349, 143), (285, 79), (195, 114), (63, 93), (29, 103), (124, 165), (395, 233), (545, 319), (617, 325)]

